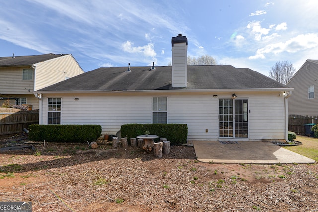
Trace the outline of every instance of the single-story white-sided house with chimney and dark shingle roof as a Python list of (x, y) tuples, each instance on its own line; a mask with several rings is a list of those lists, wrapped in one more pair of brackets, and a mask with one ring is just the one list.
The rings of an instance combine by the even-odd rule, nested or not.
[[(231, 65), (187, 66), (187, 38), (172, 38), (172, 66), (98, 68), (46, 88), (40, 124), (184, 123), (188, 140), (284, 140), (292, 90)], [(150, 132), (151, 133), (151, 132)]]

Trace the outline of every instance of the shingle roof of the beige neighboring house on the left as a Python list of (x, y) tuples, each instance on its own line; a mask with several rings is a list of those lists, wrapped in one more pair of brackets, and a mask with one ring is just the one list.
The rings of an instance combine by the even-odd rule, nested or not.
[[(68, 54), (62, 54), (68, 55)], [(53, 53), (44, 55), (28, 55), (15, 57), (0, 57), (0, 67), (8, 66), (30, 66), (42, 61), (47, 61), (53, 58), (61, 57), (61, 54), (55, 55)]]

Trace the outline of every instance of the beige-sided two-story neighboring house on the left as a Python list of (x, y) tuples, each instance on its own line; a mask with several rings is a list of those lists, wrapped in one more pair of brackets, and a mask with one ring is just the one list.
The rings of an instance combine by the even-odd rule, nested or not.
[(82, 73), (71, 54), (0, 57), (0, 106), (9, 100), (38, 109), (34, 91)]

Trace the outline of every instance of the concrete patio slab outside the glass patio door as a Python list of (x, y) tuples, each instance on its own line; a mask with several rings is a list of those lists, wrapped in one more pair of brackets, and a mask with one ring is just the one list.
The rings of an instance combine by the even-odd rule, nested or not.
[(197, 159), (213, 163), (315, 163), (315, 160), (265, 141), (238, 141), (222, 144), (219, 141), (193, 141)]

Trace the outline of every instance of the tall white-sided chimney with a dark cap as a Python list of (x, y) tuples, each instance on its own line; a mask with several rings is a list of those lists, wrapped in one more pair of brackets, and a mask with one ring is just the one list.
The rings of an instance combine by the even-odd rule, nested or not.
[(187, 86), (188, 39), (179, 34), (172, 37), (172, 87)]

